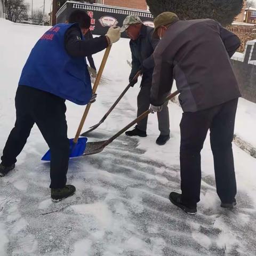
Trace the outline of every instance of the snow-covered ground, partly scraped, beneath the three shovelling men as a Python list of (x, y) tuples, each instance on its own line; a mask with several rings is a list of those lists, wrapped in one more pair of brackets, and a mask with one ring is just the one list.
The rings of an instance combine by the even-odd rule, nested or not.
[[(0, 19), (0, 153), (15, 121), (21, 69), (46, 29)], [(94, 57), (98, 67), (102, 56)], [(111, 50), (84, 130), (98, 123), (127, 85), (130, 59), (129, 41), (121, 39)], [(134, 86), (126, 93), (89, 141), (107, 139), (135, 118), (138, 91)], [(74, 138), (84, 107), (67, 102), (67, 109), (68, 135)], [(100, 154), (72, 159), (68, 183), (77, 192), (60, 203), (50, 199), (49, 164), (40, 161), (47, 145), (35, 126), (17, 167), (0, 180), (0, 255), (256, 255), (256, 159), (234, 145), (238, 206), (221, 209), (207, 138), (198, 213), (183, 213), (168, 199), (180, 188), (182, 113), (174, 103), (169, 109), (172, 138), (165, 146), (155, 144), (157, 118), (150, 115), (147, 138), (121, 135)], [(256, 127), (254, 110), (253, 103), (239, 101), (236, 130), (252, 141), (255, 134), (244, 131)]]

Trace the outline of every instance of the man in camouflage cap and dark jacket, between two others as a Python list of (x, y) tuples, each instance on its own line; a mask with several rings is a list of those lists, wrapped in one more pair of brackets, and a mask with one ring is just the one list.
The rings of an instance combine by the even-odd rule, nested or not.
[[(143, 25), (140, 18), (135, 15), (129, 15), (125, 18), (121, 31), (126, 31), (127, 35), (131, 38), (132, 70), (129, 77), (131, 86), (137, 83), (137, 81), (132, 81), (135, 74), (139, 70), (141, 70), (142, 73), (141, 89), (137, 98), (137, 116), (140, 116), (143, 112), (148, 110), (150, 106), (150, 88), (154, 70), (153, 52), (159, 39), (153, 39), (152, 34), (154, 29)], [(170, 139), (169, 110), (167, 102), (163, 104), (162, 111), (157, 113), (157, 118), (160, 135), (157, 138), (156, 143), (158, 145), (164, 145), (166, 141)], [(128, 136), (146, 137), (147, 121), (148, 118), (146, 117), (137, 123), (132, 131), (127, 131), (125, 134)]]

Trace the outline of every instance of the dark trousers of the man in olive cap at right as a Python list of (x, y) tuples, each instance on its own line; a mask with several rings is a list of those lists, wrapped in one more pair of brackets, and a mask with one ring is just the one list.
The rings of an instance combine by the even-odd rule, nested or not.
[(210, 129), (217, 194), (223, 203), (236, 195), (232, 144), (238, 99), (195, 113), (183, 113), (180, 132), (182, 202), (195, 206), (200, 201), (201, 150)]

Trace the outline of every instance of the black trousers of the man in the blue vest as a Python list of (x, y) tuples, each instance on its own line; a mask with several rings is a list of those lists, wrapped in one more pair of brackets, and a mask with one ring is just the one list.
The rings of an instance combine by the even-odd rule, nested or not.
[(3, 165), (17, 161), (36, 123), (51, 150), (50, 188), (63, 188), (69, 161), (65, 100), (32, 87), (18, 86), (15, 107), (16, 122), (3, 150)]

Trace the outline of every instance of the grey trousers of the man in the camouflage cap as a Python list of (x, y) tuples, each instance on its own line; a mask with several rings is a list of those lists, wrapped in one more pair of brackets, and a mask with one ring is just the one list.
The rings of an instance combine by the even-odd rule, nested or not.
[[(142, 113), (147, 111), (150, 106), (150, 88), (151, 88), (151, 78), (148, 81), (143, 81), (141, 83), (141, 89), (137, 97), (137, 117)], [(158, 119), (158, 129), (161, 135), (170, 134), (170, 121), (169, 121), (169, 109), (168, 102), (165, 102), (162, 108), (162, 111), (157, 112)], [(148, 116), (143, 118), (140, 122), (137, 123), (138, 129), (141, 131), (147, 131)]]

